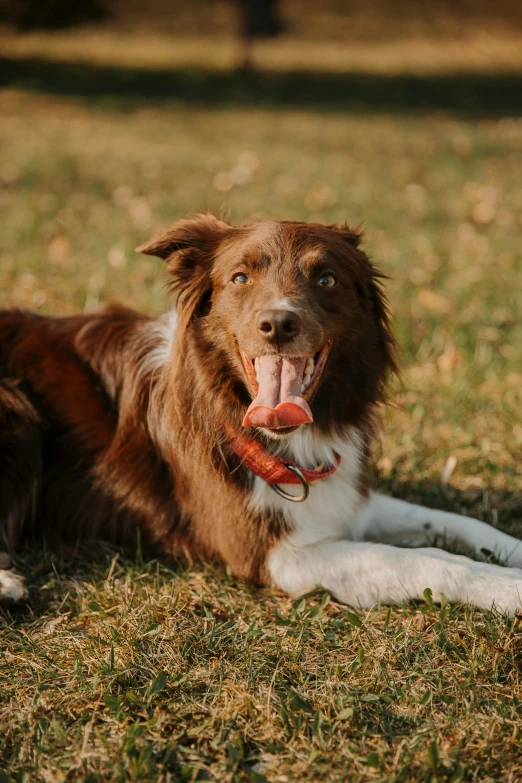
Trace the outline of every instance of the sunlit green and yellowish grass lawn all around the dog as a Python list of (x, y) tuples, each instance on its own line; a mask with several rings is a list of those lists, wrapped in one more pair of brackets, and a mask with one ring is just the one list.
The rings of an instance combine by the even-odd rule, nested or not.
[[(376, 43), (296, 96), (297, 43), (246, 77), (151, 62), (110, 28), (79, 58), (75, 35), (60, 56), (46, 36), (2, 48), (0, 306), (159, 312), (161, 264), (133, 248), (195, 209), (364, 221), (404, 367), (379, 485), (522, 535), (522, 67), (508, 84), (461, 55), (455, 82), (401, 44), (379, 74)], [(34, 589), (0, 614), (0, 783), (522, 779), (519, 621), (93, 559), (20, 556)]]

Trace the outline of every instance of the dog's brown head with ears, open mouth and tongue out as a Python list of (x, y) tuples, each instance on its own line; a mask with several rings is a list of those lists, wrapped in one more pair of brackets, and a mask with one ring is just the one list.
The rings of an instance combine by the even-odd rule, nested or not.
[[(163, 258), (182, 330), (214, 355), (244, 426), (281, 437), (361, 424), (395, 369), (379, 275), (345, 227), (180, 220), (138, 248)], [(186, 333), (186, 332), (185, 332)]]

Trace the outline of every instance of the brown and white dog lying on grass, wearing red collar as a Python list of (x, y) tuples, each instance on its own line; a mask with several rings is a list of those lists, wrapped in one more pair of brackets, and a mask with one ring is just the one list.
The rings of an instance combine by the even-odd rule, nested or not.
[[(181, 220), (140, 248), (177, 308), (0, 313), (0, 535), (142, 540), (291, 593), (362, 606), (435, 597), (514, 612), (522, 565), (487, 525), (369, 492), (376, 406), (395, 370), (380, 275), (357, 232)], [(367, 543), (380, 539), (384, 544)], [(0, 571), (0, 597), (25, 588)]]

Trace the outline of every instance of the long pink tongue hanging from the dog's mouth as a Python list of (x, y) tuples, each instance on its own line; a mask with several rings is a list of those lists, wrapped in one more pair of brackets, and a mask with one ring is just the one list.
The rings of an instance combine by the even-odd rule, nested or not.
[(295, 427), (313, 421), (301, 394), (305, 356), (260, 356), (257, 360), (257, 397), (243, 419), (243, 427)]

